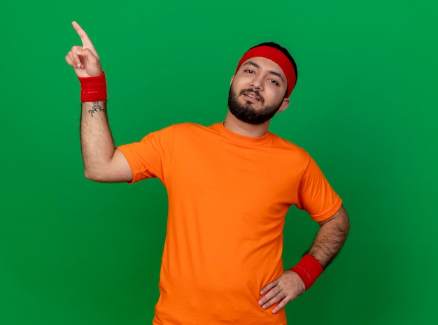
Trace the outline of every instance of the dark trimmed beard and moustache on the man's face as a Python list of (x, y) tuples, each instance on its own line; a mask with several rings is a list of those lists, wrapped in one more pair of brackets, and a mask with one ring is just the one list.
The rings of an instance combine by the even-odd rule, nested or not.
[[(260, 103), (264, 103), (264, 98), (259, 94), (259, 92), (255, 89), (243, 89), (239, 96), (242, 94), (245, 94), (246, 92), (253, 92), (256, 94), (259, 99)], [(234, 92), (233, 87), (229, 87), (229, 94), (228, 94), (228, 108), (229, 111), (236, 117), (238, 120), (241, 120), (242, 122), (249, 123), (249, 124), (263, 124), (264, 122), (267, 122), (267, 120), (270, 120), (272, 117), (274, 117), (275, 113), (280, 109), (281, 107), (281, 101), (278, 104), (273, 105), (267, 105), (263, 108), (260, 108), (260, 110), (256, 110), (253, 108), (253, 103), (247, 101), (246, 104), (239, 103), (238, 95), (236, 92)]]

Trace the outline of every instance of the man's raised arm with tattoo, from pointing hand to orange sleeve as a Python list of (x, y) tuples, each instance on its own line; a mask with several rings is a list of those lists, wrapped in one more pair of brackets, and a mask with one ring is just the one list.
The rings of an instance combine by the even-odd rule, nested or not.
[[(90, 38), (77, 22), (73, 27), (78, 32), (82, 46), (73, 46), (66, 55), (66, 62), (73, 67), (81, 82), (97, 80), (99, 87), (104, 81), (99, 55)], [(102, 81), (103, 80), (103, 81)], [(106, 92), (106, 85), (104, 91)], [(106, 96), (105, 96), (106, 97)], [(133, 174), (123, 154), (115, 149), (108, 124), (106, 99), (82, 100), (80, 117), (80, 145), (85, 177), (97, 182), (128, 182)]]

